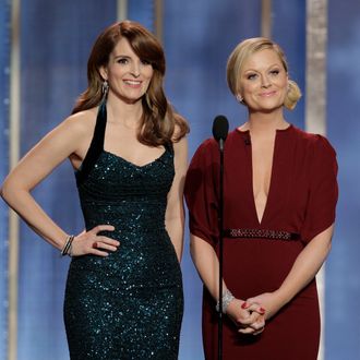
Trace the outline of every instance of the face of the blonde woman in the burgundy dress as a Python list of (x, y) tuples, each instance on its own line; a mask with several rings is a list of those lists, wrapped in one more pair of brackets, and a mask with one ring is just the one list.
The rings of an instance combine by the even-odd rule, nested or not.
[(253, 111), (283, 107), (288, 74), (275, 50), (264, 49), (245, 59), (240, 71), (239, 95)]

